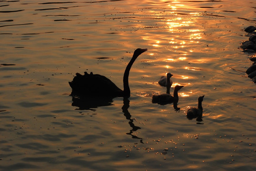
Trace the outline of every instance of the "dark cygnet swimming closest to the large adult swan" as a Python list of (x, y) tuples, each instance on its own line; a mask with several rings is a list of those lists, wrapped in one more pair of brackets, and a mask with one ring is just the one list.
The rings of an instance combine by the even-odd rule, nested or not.
[[(171, 104), (173, 103), (173, 107), (175, 108), (175, 110), (179, 110), (179, 108), (177, 107), (177, 103), (178, 103), (178, 91), (184, 87), (183, 85), (176, 85), (174, 87), (174, 91), (173, 91), (173, 96), (166, 93), (166, 94), (161, 94), (161, 95), (153, 95), (152, 96), (152, 103), (157, 103), (157, 104)], [(167, 92), (168, 92), (168, 86), (167, 86)]]

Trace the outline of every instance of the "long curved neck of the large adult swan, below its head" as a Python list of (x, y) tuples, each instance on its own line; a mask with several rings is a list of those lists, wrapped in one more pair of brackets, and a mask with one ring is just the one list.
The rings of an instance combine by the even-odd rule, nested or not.
[(138, 57), (137, 54), (133, 54), (130, 62), (128, 63), (128, 65), (126, 66), (125, 69), (125, 73), (124, 73), (124, 77), (123, 77), (123, 84), (124, 84), (124, 96), (130, 96), (130, 87), (129, 87), (129, 82), (128, 82), (128, 77), (129, 77), (129, 72), (131, 69), (132, 64), (134, 63), (134, 61), (136, 60), (136, 58)]

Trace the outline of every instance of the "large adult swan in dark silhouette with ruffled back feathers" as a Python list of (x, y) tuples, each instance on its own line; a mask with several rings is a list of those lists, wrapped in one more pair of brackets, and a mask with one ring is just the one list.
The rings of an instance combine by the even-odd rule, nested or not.
[(87, 72), (84, 75), (76, 73), (76, 76), (71, 82), (69, 82), (70, 87), (72, 88), (71, 95), (79, 96), (111, 96), (111, 97), (129, 97), (130, 88), (128, 84), (129, 71), (132, 64), (137, 59), (137, 57), (148, 49), (138, 48), (134, 51), (133, 57), (126, 66), (124, 76), (123, 76), (123, 85), (124, 90), (118, 88), (110, 79), (106, 76), (101, 76), (99, 74), (93, 74), (92, 72), (88, 74)]

